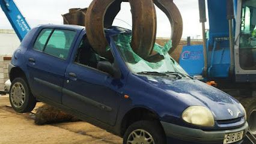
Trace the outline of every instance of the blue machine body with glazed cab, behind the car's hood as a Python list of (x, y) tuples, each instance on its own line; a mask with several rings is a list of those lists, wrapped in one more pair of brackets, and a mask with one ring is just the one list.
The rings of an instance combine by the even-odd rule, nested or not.
[[(206, 1), (198, 2), (204, 32)], [(209, 38), (203, 34), (203, 45), (183, 47), (181, 67), (204, 81), (255, 83), (256, 1), (207, 0), (207, 11)]]

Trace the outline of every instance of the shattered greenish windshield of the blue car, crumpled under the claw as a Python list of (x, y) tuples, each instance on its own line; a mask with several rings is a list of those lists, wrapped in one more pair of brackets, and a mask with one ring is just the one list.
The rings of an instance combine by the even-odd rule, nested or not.
[(180, 74), (182, 77), (188, 76), (186, 71), (171, 58), (168, 54), (171, 47), (171, 40), (164, 47), (159, 44), (154, 45), (153, 54), (160, 54), (162, 60), (159, 62), (148, 62), (133, 52), (130, 46), (132, 40), (131, 34), (119, 34), (114, 36), (115, 45), (119, 50), (124, 62), (130, 71), (137, 74)]

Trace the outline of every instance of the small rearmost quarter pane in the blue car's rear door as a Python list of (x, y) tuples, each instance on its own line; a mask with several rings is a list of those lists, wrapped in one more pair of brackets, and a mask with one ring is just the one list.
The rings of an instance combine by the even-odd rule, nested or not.
[(43, 51), (44, 45), (52, 32), (52, 29), (43, 29), (35, 40), (34, 49)]

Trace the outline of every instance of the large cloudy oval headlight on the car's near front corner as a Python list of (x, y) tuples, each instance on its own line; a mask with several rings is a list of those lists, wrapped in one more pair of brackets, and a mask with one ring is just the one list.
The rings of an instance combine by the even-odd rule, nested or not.
[(184, 121), (203, 127), (213, 127), (215, 119), (212, 112), (204, 106), (190, 106), (182, 113)]

